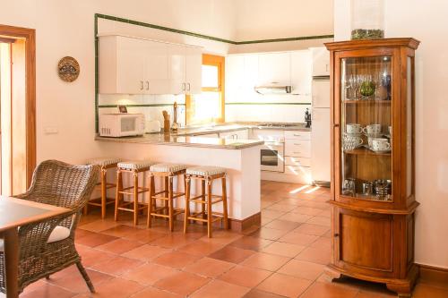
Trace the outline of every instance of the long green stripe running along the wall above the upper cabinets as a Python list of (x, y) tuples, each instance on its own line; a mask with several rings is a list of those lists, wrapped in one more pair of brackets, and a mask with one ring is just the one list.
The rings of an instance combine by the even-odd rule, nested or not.
[(268, 43), (268, 42), (284, 42), (284, 41), (334, 38), (334, 35), (327, 34), (327, 35), (304, 36), (304, 37), (296, 37), (296, 38), (272, 38), (272, 39), (259, 39), (259, 40), (247, 40), (247, 41), (233, 41), (233, 40), (229, 40), (229, 39), (225, 39), (225, 38), (215, 38), (215, 37), (200, 34), (200, 33), (194, 33), (194, 32), (185, 31), (185, 30), (177, 30), (174, 28), (163, 27), (163, 26), (154, 25), (154, 24), (150, 24), (147, 22), (143, 22), (143, 21), (134, 21), (134, 20), (124, 19), (124, 18), (119, 18), (119, 17), (115, 17), (112, 15), (108, 15), (108, 14), (96, 13), (95, 16), (98, 17), (99, 19), (105, 19), (105, 20), (110, 20), (110, 21), (120, 21), (120, 22), (125, 22), (128, 24), (136, 25), (136, 26), (142, 26), (142, 27), (147, 27), (147, 28), (152, 28), (152, 29), (157, 29), (157, 30), (164, 30), (164, 31), (168, 31), (168, 32), (193, 36), (195, 38), (204, 38), (204, 39), (224, 42), (224, 43), (228, 43), (231, 45), (248, 45), (248, 44), (261, 44), (261, 43)]

